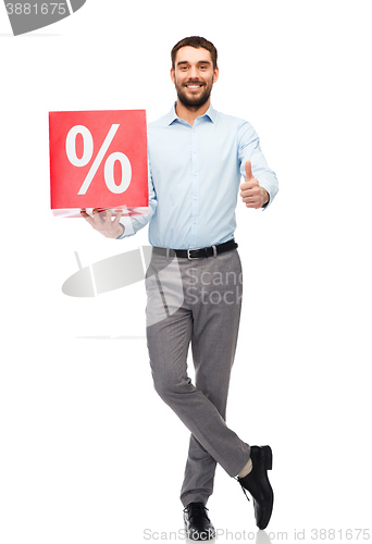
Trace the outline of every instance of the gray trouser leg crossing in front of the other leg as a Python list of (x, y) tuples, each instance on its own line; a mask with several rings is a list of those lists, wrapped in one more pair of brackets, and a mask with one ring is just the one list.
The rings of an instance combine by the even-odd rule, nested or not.
[[(224, 256), (219, 256), (222, 257)], [(186, 293), (190, 277), (187, 270), (194, 262), (178, 259), (178, 265)], [(162, 299), (171, 301), (165, 312), (163, 310), (163, 319), (160, 319), (161, 311), (158, 308), (159, 284), (150, 281), (157, 272), (162, 287)], [(154, 387), (214, 461), (221, 463), (231, 477), (235, 477), (249, 458), (249, 446), (226, 426), (213, 401), (193, 385), (187, 375), (187, 350), (196, 323), (194, 317), (196, 309), (191, 307), (186, 296), (181, 307), (176, 310), (172, 308), (172, 301), (176, 298), (176, 275), (174, 267), (172, 269), (172, 265), (166, 265), (165, 257), (152, 257), (147, 274), (147, 314), (148, 323), (151, 323), (147, 327), (147, 338)], [(198, 335), (200, 334), (202, 326)], [(196, 353), (197, 344), (195, 344)], [(202, 382), (202, 369), (197, 370), (197, 380)]]

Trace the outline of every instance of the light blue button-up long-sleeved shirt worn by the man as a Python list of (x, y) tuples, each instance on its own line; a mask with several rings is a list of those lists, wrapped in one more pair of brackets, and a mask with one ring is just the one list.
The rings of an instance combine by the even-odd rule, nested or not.
[(173, 106), (166, 115), (149, 123), (147, 133), (149, 211), (145, 217), (122, 218), (122, 237), (150, 221), (152, 246), (189, 249), (230, 240), (247, 160), (269, 193), (269, 205), (277, 193), (277, 180), (261, 152), (259, 137), (241, 119), (210, 106), (191, 126), (177, 118)]

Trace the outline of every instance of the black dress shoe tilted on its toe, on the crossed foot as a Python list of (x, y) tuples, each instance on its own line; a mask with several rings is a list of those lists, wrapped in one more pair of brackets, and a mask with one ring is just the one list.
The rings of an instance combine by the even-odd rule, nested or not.
[[(274, 494), (268, 478), (268, 470), (272, 469), (273, 455), (270, 446), (251, 446), (250, 458), (252, 470), (248, 475), (238, 478), (238, 482), (249, 491), (253, 498), (256, 524), (264, 529), (273, 511)], [(248, 497), (247, 497), (248, 498)]]

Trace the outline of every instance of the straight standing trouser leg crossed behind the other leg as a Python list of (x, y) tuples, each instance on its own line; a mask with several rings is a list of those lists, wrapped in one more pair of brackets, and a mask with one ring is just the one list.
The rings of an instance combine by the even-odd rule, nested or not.
[[(225, 419), (241, 306), (241, 267), (237, 251), (200, 261), (199, 270), (193, 272), (193, 290), (188, 294), (196, 295), (197, 289), (191, 337), (196, 387)], [(195, 297), (193, 300), (196, 301)], [(248, 457), (249, 449), (246, 462)], [(215, 459), (191, 435), (181, 492), (184, 505), (207, 503), (213, 492), (215, 465)]]

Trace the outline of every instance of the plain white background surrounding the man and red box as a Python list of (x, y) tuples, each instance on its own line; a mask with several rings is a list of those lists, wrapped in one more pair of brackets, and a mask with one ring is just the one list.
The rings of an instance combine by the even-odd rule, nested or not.
[[(144, 283), (61, 290), (74, 251), (87, 265), (146, 245), (147, 228), (117, 242), (54, 219), (48, 112), (157, 119), (175, 98), (170, 50), (189, 35), (218, 47), (213, 106), (252, 123), (281, 186), (268, 211), (237, 209), (245, 295), (227, 410), (243, 440), (274, 452), (266, 533), (371, 527), (370, 2), (88, 0), (20, 37), (0, 7), (4, 544), (170, 541), (183, 528), (188, 431), (152, 387)], [(252, 504), (220, 468), (208, 506), (218, 542), (256, 540)]]

